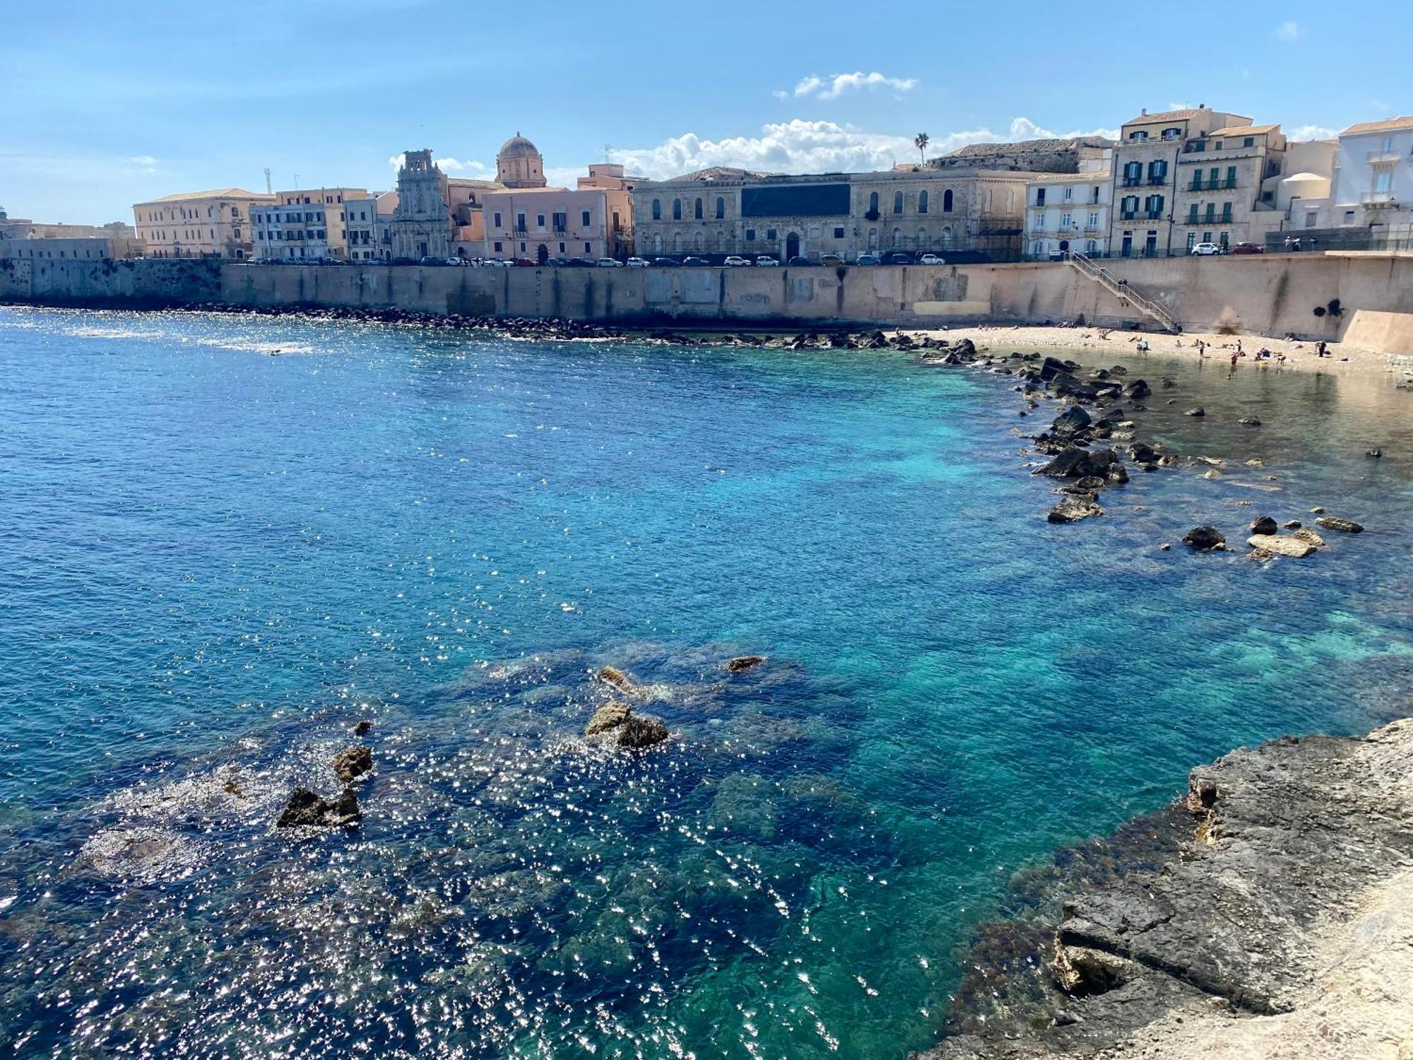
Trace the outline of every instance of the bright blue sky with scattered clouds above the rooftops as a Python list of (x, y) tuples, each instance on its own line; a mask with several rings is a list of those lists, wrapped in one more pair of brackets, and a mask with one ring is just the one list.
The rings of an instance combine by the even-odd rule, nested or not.
[(490, 177), (534, 140), (551, 182), (593, 161), (889, 168), (966, 143), (1113, 134), (1205, 103), (1291, 139), (1413, 113), (1413, 4), (212, 4), (10, 0), (0, 8), (0, 208), (131, 222), (184, 191), (396, 184), (430, 147)]

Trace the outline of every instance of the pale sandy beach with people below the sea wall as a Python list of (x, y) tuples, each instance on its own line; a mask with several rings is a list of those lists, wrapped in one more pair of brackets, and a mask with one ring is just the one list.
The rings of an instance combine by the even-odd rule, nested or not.
[[(904, 329), (909, 331), (909, 329)], [(1056, 328), (1056, 326), (1027, 326), (1027, 325), (972, 325), (961, 328), (945, 328), (937, 331), (909, 331), (914, 338), (931, 335), (940, 339), (955, 342), (959, 338), (971, 339), (978, 348), (986, 348), (992, 353), (1009, 353), (1012, 348), (1048, 346), (1053, 349), (1075, 351), (1112, 351), (1113, 353), (1133, 353), (1140, 339), (1147, 341), (1149, 352), (1171, 353), (1177, 356), (1198, 356), (1198, 342), (1205, 343), (1204, 356), (1218, 360), (1228, 360), (1238, 349), (1246, 355), (1241, 359), (1241, 366), (1280, 367), (1282, 370), (1297, 372), (1356, 372), (1375, 375), (1396, 375), (1400, 380), (1413, 377), (1413, 359), (1392, 358), (1388, 353), (1356, 349), (1340, 342), (1327, 345), (1327, 356), (1316, 355), (1314, 342), (1294, 339), (1272, 339), (1260, 335), (1218, 335), (1215, 332), (1188, 332), (1183, 335), (1167, 335), (1152, 331), (1122, 331), (1105, 328)], [(1256, 353), (1267, 349), (1272, 355), (1286, 355), (1286, 360), (1256, 360)]]

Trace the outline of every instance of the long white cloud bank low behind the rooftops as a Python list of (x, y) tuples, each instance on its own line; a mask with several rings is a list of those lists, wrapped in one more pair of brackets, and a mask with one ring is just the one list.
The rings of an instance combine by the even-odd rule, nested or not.
[[(968, 129), (933, 136), (928, 154), (945, 154), (976, 143), (1005, 143), (1070, 136), (1118, 137), (1116, 129), (1054, 133), (1041, 129), (1029, 117), (1013, 119), (1005, 133), (991, 129)], [(763, 172), (866, 172), (889, 170), (894, 163), (917, 158), (911, 136), (870, 133), (836, 122), (770, 123), (760, 136), (733, 136), (704, 140), (695, 133), (675, 136), (656, 147), (615, 148), (613, 161), (623, 163), (629, 172), (666, 179), (712, 165), (732, 165)]]

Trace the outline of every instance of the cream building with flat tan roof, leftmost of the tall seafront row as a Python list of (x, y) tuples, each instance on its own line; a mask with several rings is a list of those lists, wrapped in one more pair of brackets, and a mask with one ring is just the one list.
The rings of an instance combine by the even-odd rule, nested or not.
[(147, 257), (249, 259), (254, 240), (250, 209), (276, 202), (242, 188), (165, 195), (133, 206), (137, 237)]

